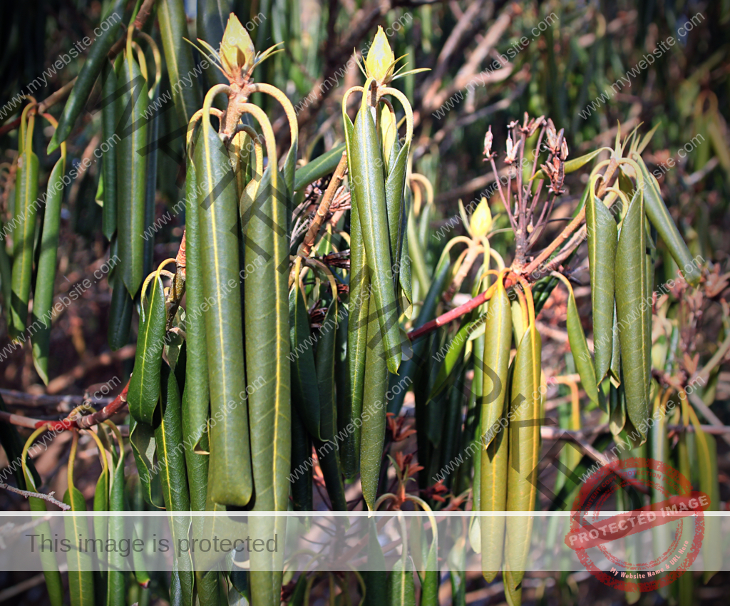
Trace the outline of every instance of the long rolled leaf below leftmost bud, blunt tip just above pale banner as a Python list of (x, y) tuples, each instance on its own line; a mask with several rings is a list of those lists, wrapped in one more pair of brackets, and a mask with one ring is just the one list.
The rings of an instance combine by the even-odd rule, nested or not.
[[(208, 496), (224, 505), (246, 505), (253, 493), (248, 396), (243, 357), (236, 186), (223, 143), (204, 116), (194, 164), (200, 224), (200, 263), (210, 386)], [(209, 120), (206, 122), (205, 120)], [(219, 185), (223, 184), (223, 185)], [(254, 272), (256, 273), (256, 272)], [(191, 314), (189, 311), (188, 314)], [(268, 326), (262, 327), (266, 331)], [(266, 337), (269, 332), (266, 332)], [(269, 351), (269, 356), (271, 352)], [(258, 380), (258, 375), (252, 377)], [(270, 462), (270, 461), (269, 461)]]

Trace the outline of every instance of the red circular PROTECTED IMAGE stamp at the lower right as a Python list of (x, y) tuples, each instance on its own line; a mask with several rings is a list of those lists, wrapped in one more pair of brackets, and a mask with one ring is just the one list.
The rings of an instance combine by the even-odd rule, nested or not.
[[(607, 517), (602, 511), (609, 509), (607, 504), (618, 491), (653, 492), (663, 498)], [(686, 477), (661, 461), (643, 457), (612, 461), (581, 487), (565, 542), (605, 585), (621, 591), (653, 591), (677, 580), (695, 561), (704, 537), (702, 512), (709, 506), (707, 494), (692, 491)], [(642, 534), (646, 531), (650, 532)], [(633, 557), (621, 557), (629, 541), (636, 546), (642, 540), (643, 551), (637, 548)]]

